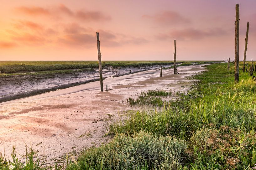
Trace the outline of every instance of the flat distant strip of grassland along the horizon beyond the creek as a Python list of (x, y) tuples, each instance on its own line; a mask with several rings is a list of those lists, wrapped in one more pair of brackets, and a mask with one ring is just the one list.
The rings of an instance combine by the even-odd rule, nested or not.
[[(184, 61), (177, 61), (178, 63)], [(196, 61), (190, 61), (189, 63)], [(206, 61), (201, 61), (206, 62)], [(208, 61), (207, 61), (208, 62)], [(102, 61), (102, 66), (152, 66), (173, 64), (173, 61)], [(98, 68), (98, 61), (0, 61), (0, 76), (17, 74), (70, 73), (74, 69)]]

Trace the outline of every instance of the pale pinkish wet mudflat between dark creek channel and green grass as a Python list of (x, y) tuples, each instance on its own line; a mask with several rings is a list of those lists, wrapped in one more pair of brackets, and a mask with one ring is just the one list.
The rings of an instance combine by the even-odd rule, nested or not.
[[(131, 107), (126, 100), (134, 99), (141, 91), (167, 90), (185, 92), (195, 80), (186, 77), (205, 70), (202, 65), (173, 69), (148, 70), (120, 77), (109, 77), (103, 81), (100, 92), (99, 81), (67, 89), (35, 95), (23, 99), (0, 103), (0, 152), (10, 156), (12, 146), (24, 154), (26, 144), (45, 160), (58, 160), (66, 153), (77, 154), (84, 148), (99, 146), (110, 137), (106, 133), (105, 121), (109, 116), (118, 119)], [(141, 108), (140, 108), (141, 109)]]

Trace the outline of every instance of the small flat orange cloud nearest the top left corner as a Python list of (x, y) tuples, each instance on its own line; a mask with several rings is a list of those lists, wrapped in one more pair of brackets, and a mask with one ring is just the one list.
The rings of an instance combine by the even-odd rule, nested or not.
[(27, 15), (49, 15), (50, 11), (42, 7), (18, 7), (16, 8), (18, 12), (27, 14)]

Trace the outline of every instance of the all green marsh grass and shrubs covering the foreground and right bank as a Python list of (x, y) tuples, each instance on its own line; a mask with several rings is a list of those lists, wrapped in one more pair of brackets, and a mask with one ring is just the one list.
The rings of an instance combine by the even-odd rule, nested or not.
[[(207, 69), (194, 76), (200, 80), (194, 90), (162, 111), (138, 111), (108, 124), (112, 141), (71, 159), (64, 169), (255, 169), (256, 82), (242, 73), (242, 63), (237, 84), (234, 65), (230, 70), (227, 63)], [(142, 98), (165, 95), (171, 94), (148, 91)], [(12, 164), (17, 170), (29, 169), (27, 165), (44, 169), (29, 157), (25, 165), (0, 158), (0, 168)]]

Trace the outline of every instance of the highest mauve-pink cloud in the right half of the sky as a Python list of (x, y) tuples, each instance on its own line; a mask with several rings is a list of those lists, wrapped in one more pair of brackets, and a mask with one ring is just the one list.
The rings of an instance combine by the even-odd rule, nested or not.
[(182, 15), (174, 11), (163, 11), (154, 15), (143, 15), (142, 18), (150, 19), (161, 25), (191, 23), (190, 19), (183, 17)]

